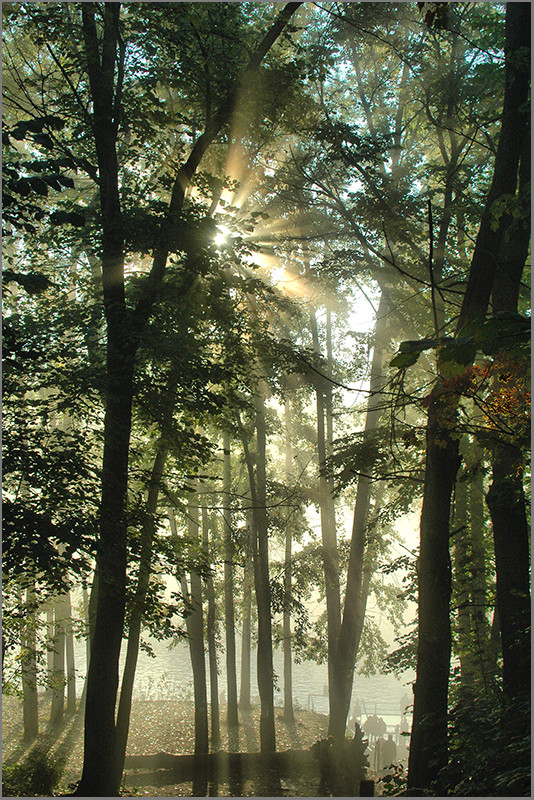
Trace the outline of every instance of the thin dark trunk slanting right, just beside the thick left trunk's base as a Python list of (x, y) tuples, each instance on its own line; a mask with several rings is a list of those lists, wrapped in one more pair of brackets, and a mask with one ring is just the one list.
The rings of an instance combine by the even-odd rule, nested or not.
[(117, 711), (116, 768), (119, 783), (124, 770), (124, 758), (126, 756), (126, 745), (128, 743), (128, 732), (130, 730), (130, 713), (132, 708), (137, 657), (139, 654), (139, 642), (141, 641), (141, 625), (145, 611), (146, 593), (150, 583), (150, 574), (152, 571), (152, 547), (157, 524), (158, 497), (163, 480), (165, 463), (167, 461), (167, 453), (167, 446), (163, 443), (163, 441), (160, 441), (150, 474), (146, 510), (141, 531), (139, 572), (137, 575), (137, 586), (135, 588), (135, 595), (130, 614), (126, 659), (122, 673), (119, 708)]

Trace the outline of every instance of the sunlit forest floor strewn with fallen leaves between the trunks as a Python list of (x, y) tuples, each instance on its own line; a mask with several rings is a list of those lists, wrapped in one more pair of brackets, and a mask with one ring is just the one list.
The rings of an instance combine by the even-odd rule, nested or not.
[[(63, 765), (63, 775), (57, 794), (72, 791), (73, 784), (81, 775), (83, 759), (83, 714), (65, 717), (61, 726), (51, 729), (48, 722), (50, 703), (40, 699), (41, 730), (43, 731), (33, 745), (22, 741), (22, 707), (13, 697), (3, 698), (2, 703), (2, 753), (3, 763), (11, 765), (24, 761), (33, 747), (45, 750), (50, 757), (57, 758)], [(259, 708), (253, 707), (250, 713), (240, 714), (240, 727), (237, 737), (228, 741), (228, 728), (225, 724), (225, 708), (221, 709), (221, 750), (257, 752), (259, 750)], [(327, 717), (314, 711), (295, 711), (294, 725), (282, 719), (282, 709), (276, 709), (276, 735), (278, 750), (307, 749), (318, 739), (326, 736)], [(193, 753), (194, 722), (193, 703), (188, 700), (137, 700), (132, 704), (128, 755), (153, 755), (160, 751), (173, 754)], [(126, 797), (187, 797), (192, 795), (191, 783), (150, 784), (154, 773), (128, 771), (125, 774)], [(158, 775), (161, 783), (162, 774)], [(220, 783), (210, 787), (212, 796), (236, 796), (235, 787), (230, 791), (228, 784)], [(282, 780), (281, 794), (289, 797), (312, 797), (317, 795), (315, 776), (293, 776)], [(257, 787), (251, 781), (244, 781), (240, 796), (259, 796)]]

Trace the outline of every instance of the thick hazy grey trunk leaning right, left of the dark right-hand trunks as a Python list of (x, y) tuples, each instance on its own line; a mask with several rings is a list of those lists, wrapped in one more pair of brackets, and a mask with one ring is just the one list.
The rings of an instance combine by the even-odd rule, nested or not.
[[(383, 289), (376, 316), (373, 359), (369, 383), (369, 400), (365, 415), (364, 436), (376, 430), (379, 417), (383, 383), (384, 354), (388, 342), (388, 314), (390, 301)], [(354, 504), (352, 536), (347, 570), (347, 586), (343, 606), (343, 619), (336, 641), (333, 659), (333, 684), (330, 694), (329, 735), (338, 740), (345, 736), (347, 715), (350, 708), (354, 666), (365, 621), (365, 608), (369, 591), (370, 575), (364, 575), (364, 556), (367, 539), (368, 512), (370, 503), (370, 480), (367, 475), (358, 477), (358, 488)]]

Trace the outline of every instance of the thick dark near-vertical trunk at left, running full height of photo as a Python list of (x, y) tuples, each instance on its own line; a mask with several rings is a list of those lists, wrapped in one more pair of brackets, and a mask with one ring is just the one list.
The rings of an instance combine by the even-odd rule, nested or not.
[(119, 680), (126, 595), (126, 494), (131, 431), (135, 345), (129, 336), (124, 291), (124, 226), (119, 196), (116, 140), (120, 90), (115, 92), (120, 4), (102, 10), (102, 52), (95, 20), (96, 7), (82, 7), (87, 73), (93, 100), (93, 131), (97, 151), (102, 217), (102, 285), (107, 324), (107, 385), (104, 453), (97, 551), (99, 590), (94, 635), (87, 674), (84, 765), (77, 793), (117, 795), (115, 765), (115, 703)]

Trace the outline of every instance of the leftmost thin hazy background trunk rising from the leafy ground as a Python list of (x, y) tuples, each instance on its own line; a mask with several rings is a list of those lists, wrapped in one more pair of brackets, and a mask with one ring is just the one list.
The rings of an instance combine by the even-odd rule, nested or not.
[(26, 622), (21, 636), (22, 720), (24, 739), (31, 741), (39, 734), (37, 699), (37, 610), (35, 589), (26, 590)]

